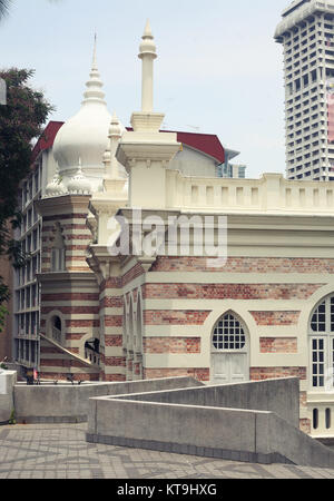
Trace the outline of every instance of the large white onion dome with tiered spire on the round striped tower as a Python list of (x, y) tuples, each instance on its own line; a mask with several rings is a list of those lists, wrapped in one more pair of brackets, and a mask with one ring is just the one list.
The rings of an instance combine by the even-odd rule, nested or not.
[(86, 87), (79, 112), (59, 129), (53, 144), (60, 175), (66, 177), (76, 173), (78, 157), (81, 158), (82, 171), (88, 176), (100, 177), (104, 171), (102, 158), (108, 148), (111, 115), (107, 109), (104, 84), (96, 63), (96, 47)]

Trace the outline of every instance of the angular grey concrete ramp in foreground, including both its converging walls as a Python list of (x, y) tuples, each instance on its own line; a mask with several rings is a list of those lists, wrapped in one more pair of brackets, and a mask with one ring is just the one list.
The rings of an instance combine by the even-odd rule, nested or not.
[(334, 452), (298, 430), (298, 405), (299, 381), (293, 377), (95, 397), (87, 441), (334, 468)]

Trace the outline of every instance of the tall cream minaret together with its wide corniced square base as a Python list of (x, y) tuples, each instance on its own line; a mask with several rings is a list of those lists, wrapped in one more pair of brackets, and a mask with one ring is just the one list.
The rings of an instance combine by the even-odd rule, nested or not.
[(166, 207), (166, 168), (180, 148), (175, 132), (160, 132), (164, 114), (154, 111), (154, 60), (157, 49), (147, 21), (139, 48), (141, 59), (141, 111), (134, 112), (134, 131), (125, 131), (117, 159), (129, 174), (129, 205)]

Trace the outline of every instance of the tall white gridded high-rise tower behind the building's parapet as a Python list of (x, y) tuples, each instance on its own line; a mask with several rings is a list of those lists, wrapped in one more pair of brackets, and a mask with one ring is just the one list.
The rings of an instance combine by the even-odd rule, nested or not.
[(334, 180), (334, 0), (295, 0), (275, 39), (284, 48), (286, 174)]

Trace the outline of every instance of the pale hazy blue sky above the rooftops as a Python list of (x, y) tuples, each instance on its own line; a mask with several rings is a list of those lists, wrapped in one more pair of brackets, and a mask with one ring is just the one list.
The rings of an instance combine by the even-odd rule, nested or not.
[(110, 112), (140, 109), (140, 37), (150, 20), (155, 111), (171, 130), (216, 134), (247, 177), (285, 174), (283, 50), (273, 38), (291, 0), (12, 0), (0, 22), (0, 68), (31, 85), (66, 121), (82, 100), (94, 37)]

